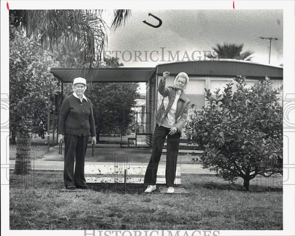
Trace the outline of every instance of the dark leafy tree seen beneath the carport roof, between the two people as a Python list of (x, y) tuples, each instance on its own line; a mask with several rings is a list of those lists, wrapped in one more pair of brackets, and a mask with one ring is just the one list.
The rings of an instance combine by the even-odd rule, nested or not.
[(85, 93), (93, 102), (96, 135), (127, 134), (134, 118), (138, 83), (92, 83)]

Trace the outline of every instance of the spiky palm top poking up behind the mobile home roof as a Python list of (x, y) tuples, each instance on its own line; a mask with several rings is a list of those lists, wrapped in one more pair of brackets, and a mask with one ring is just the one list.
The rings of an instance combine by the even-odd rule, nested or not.
[[(253, 56), (251, 56), (254, 51), (247, 50), (242, 53), (244, 44), (226, 44), (223, 45), (217, 43), (212, 49), (215, 51), (214, 55), (210, 53), (207, 58), (218, 58), (218, 59), (236, 59), (236, 60), (246, 60), (250, 61)], [(217, 55), (216, 55), (217, 54)]]

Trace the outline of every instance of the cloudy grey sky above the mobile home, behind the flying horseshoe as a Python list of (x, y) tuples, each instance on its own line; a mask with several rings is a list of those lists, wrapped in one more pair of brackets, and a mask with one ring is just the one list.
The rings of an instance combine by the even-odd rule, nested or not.
[[(106, 11), (102, 15), (108, 25), (111, 23), (110, 13)], [(142, 22), (158, 24), (158, 20), (148, 16), (149, 13), (162, 20), (160, 27), (153, 28)], [(243, 43), (242, 52), (255, 52), (253, 62), (268, 65), (270, 40), (259, 37), (278, 38), (271, 43), (270, 65), (283, 63), (283, 10), (132, 10), (124, 26), (109, 32), (106, 54), (115, 56), (112, 51), (121, 51), (117, 55), (124, 67), (155, 67), (169, 62), (168, 51), (174, 56), (179, 50), (179, 60), (199, 60), (200, 56), (204, 58), (203, 51), (212, 50), (216, 43)], [(153, 50), (159, 53), (152, 53), (154, 61), (150, 59)], [(135, 58), (134, 51), (142, 53), (140, 58), (143, 61)], [(201, 52), (192, 55), (194, 51)], [(140, 87), (140, 92), (145, 93), (145, 84)]]

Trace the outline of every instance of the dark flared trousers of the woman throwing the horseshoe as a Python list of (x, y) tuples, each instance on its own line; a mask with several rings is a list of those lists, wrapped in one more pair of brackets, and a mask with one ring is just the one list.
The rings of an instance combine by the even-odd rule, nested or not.
[(174, 186), (176, 166), (177, 166), (177, 155), (178, 145), (180, 139), (180, 133), (177, 132), (173, 135), (169, 135), (170, 128), (158, 126), (156, 124), (155, 133), (153, 136), (153, 151), (148, 163), (147, 170), (145, 172), (145, 184), (154, 185), (157, 181), (157, 171), (160, 162), (165, 138), (167, 136), (167, 154), (166, 154), (166, 186)]

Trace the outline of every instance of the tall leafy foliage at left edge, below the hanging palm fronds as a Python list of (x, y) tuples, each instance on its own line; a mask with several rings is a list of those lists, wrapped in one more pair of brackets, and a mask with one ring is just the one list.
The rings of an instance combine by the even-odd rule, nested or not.
[(48, 97), (59, 91), (49, 68), (58, 63), (40, 50), (40, 35), (29, 39), (12, 25), (9, 33), (10, 131), (45, 138), (47, 112), (55, 108)]

